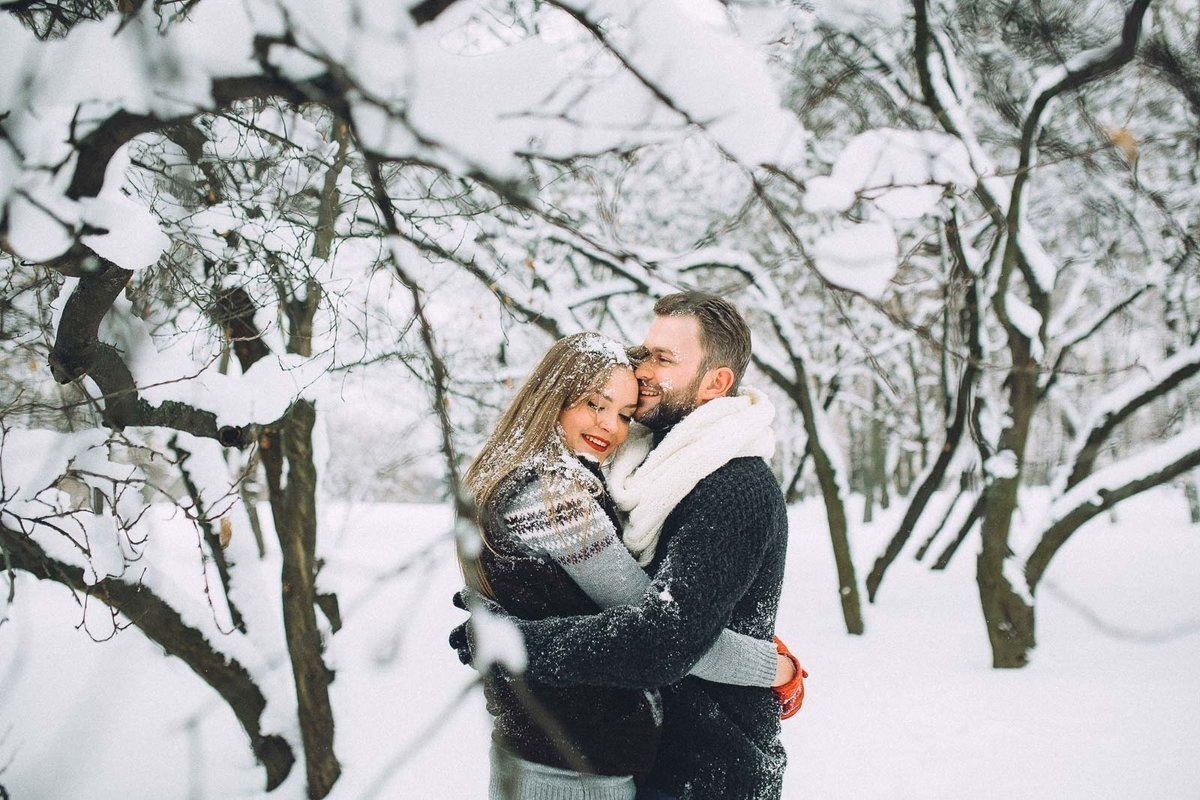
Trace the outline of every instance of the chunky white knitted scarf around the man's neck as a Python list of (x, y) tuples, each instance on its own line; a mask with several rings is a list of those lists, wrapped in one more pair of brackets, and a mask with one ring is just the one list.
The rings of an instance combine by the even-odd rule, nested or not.
[(654, 559), (662, 523), (700, 481), (733, 458), (770, 458), (774, 419), (767, 396), (744, 386), (736, 397), (718, 397), (690, 413), (658, 447), (649, 428), (631, 427), (606, 477), (617, 507), (628, 513), (622, 537), (638, 564)]

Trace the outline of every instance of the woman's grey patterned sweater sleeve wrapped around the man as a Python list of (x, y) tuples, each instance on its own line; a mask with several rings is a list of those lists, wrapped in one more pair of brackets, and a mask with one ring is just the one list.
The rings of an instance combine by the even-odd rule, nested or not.
[[(547, 498), (534, 481), (514, 498), (505, 523), (532, 551), (547, 555), (601, 608), (636, 606), (650, 578), (625, 549), (608, 516), (586, 489)], [(724, 628), (689, 674), (719, 684), (770, 686), (775, 644)]]

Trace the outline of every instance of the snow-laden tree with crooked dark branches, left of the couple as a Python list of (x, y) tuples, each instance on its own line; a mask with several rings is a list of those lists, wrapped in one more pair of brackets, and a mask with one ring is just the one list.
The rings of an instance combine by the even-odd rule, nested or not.
[[(600, 323), (596, 306), (544, 315), (505, 294), (505, 273), (527, 269), (528, 254), (509, 260), (522, 240), (554, 229), (577, 258), (622, 258), (539, 200), (539, 173), (697, 131), (752, 169), (803, 132), (718, 6), (4, 10), (5, 347), (49, 366), (20, 374), (6, 359), (10, 587), (14, 569), (67, 585), (97, 636), (96, 602), (109, 632), (137, 626), (228, 704), (269, 788), (302, 757), (310, 796), (325, 796), (341, 765), (322, 652), (340, 610), (319, 588), (318, 409), (338, 377), (390, 361), (428, 386), (416, 404), (437, 413), (454, 489), (451, 417), (476, 403), (463, 389), (481, 361), (464, 284), (485, 297), (473, 314), (557, 335)], [(695, 48), (710, 52), (702, 80), (678, 68)], [(256, 569), (259, 475), (272, 579)], [(163, 500), (197, 530), (182, 549), (155, 536)], [(198, 582), (173, 583), (172, 559), (198, 561)], [(268, 675), (281, 660), (290, 687)]]

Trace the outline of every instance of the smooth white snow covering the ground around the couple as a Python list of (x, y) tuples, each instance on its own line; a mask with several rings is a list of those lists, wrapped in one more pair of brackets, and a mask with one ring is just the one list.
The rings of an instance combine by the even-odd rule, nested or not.
[[(946, 573), (898, 561), (866, 634), (848, 637), (820, 510), (794, 509), (780, 632), (811, 678), (784, 724), (785, 796), (1200, 796), (1200, 528), (1178, 498), (1135, 499), (1060, 554), (1039, 593), (1040, 645), (1015, 672), (989, 668), (971, 543)], [(482, 798), (487, 718), (478, 694), (460, 702), (470, 675), (445, 644), (461, 612), (437, 543), (444, 510), (329, 519), (323, 581), (346, 616), (330, 645), (332, 796)], [(860, 577), (889, 529), (857, 535)], [(17, 602), (0, 626), (0, 784), (13, 800), (302, 796), (300, 769), (264, 795), (232, 715), (136, 631), (92, 643), (70, 595), (28, 576)]]

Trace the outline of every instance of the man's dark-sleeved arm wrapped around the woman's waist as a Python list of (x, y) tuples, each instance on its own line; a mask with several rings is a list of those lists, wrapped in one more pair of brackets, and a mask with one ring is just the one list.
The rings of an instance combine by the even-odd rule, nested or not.
[[(688, 674), (754, 582), (772, 531), (779, 488), (748, 459), (701, 481), (671, 522), (678, 528), (637, 606), (589, 616), (514, 620), (544, 684), (650, 687)], [(767, 493), (774, 492), (775, 498)]]

